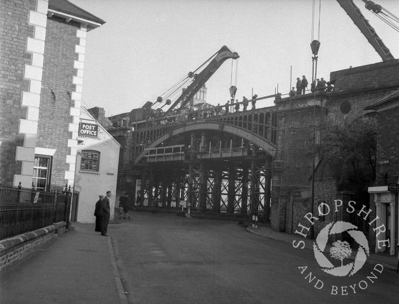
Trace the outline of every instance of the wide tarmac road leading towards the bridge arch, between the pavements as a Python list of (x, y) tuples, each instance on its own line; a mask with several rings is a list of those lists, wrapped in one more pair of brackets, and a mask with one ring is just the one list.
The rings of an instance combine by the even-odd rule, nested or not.
[[(398, 303), (399, 275), (389, 269), (380, 274), (365, 264), (351, 277), (334, 277), (312, 250), (250, 234), (234, 222), (131, 215), (109, 226), (129, 303)], [(307, 268), (301, 274), (298, 267)], [(367, 279), (371, 272), (377, 278)]]

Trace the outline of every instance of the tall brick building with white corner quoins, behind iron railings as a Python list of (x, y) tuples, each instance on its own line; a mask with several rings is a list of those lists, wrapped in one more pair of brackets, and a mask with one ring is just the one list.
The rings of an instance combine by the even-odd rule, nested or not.
[(0, 178), (73, 187), (86, 34), (105, 23), (67, 0), (1, 0)]

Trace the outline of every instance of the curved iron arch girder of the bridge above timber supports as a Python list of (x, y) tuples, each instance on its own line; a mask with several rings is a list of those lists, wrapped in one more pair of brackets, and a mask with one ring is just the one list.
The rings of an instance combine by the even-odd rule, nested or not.
[[(199, 130), (221, 131), (221, 132), (226, 132), (226, 133), (230, 133), (233, 135), (237, 135), (241, 138), (244, 138), (244, 139), (250, 141), (254, 145), (260, 147), (261, 149), (263, 149), (266, 153), (268, 153), (273, 158), (275, 157), (275, 155), (277, 153), (277, 147), (275, 145), (273, 145), (271, 142), (269, 142), (268, 140), (266, 140), (265, 138), (263, 138), (257, 134), (251, 133), (250, 131), (248, 131), (244, 128), (237, 127), (237, 126), (234, 126), (231, 124), (212, 123), (212, 122), (200, 122), (200, 123), (196, 122), (196, 123), (186, 124), (183, 127), (171, 130), (168, 133), (165, 133), (164, 135), (160, 136), (159, 138), (154, 140), (152, 143), (150, 143), (150, 145), (147, 148), (154, 148), (172, 136), (179, 135), (179, 134), (186, 133), (186, 132), (199, 131)], [(138, 162), (146, 155), (146, 153), (147, 153), (146, 150), (142, 151), (139, 154), (139, 156), (137, 156), (135, 158), (133, 166), (136, 166), (138, 164)]]

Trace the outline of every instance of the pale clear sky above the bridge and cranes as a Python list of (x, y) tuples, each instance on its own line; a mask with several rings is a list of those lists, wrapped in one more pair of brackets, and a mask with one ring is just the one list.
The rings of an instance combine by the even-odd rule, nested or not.
[[(240, 57), (233, 68), (226, 60), (206, 82), (213, 105), (230, 98), (231, 84), (242, 101), (252, 91), (274, 94), (277, 86), (286, 94), (302, 75), (309, 81), (313, 39), (321, 43), (317, 78), (328, 81), (332, 71), (382, 61), (336, 0), (315, 0), (313, 39), (313, 0), (70, 1), (106, 21), (87, 33), (82, 90), (82, 105), (103, 107), (106, 116), (155, 102), (223, 45)], [(362, 0), (354, 2), (399, 58), (399, 33)], [(375, 2), (399, 16), (397, 0)], [(257, 102), (271, 105), (273, 98)]]

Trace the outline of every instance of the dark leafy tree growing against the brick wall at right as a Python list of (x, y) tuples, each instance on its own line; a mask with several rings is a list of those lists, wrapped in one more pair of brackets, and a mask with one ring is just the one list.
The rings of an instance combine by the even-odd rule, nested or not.
[(376, 179), (376, 119), (361, 116), (343, 124), (325, 123), (320, 130), (316, 155), (325, 164), (342, 166), (339, 187), (357, 195), (367, 191)]

